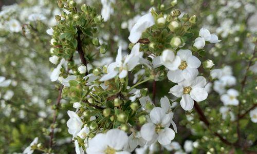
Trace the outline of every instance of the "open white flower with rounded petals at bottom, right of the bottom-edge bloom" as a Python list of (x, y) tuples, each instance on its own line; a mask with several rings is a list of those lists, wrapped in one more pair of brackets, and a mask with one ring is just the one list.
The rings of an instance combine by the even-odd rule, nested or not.
[(171, 114), (166, 114), (160, 107), (155, 107), (150, 112), (151, 122), (141, 127), (142, 138), (150, 143), (156, 140), (162, 145), (170, 144), (175, 138), (175, 132), (169, 128), (172, 120)]

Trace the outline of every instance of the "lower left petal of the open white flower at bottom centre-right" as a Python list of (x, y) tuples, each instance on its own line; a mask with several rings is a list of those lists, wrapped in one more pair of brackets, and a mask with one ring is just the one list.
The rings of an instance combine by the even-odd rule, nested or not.
[(153, 123), (144, 124), (141, 127), (140, 132), (141, 132), (142, 138), (146, 141), (151, 141), (157, 136), (155, 132), (155, 124)]

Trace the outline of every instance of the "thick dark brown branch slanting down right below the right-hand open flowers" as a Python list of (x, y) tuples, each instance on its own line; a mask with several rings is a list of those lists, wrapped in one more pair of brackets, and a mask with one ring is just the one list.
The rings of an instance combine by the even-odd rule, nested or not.
[[(206, 118), (204, 111), (201, 110), (200, 106), (197, 104), (196, 101), (194, 101), (194, 108), (196, 110), (196, 112), (198, 113), (200, 120), (203, 121), (208, 128), (210, 128), (210, 122), (208, 121), (208, 119)], [(213, 133), (216, 137), (218, 137), (223, 143), (230, 145), (230, 146), (235, 146), (234, 143), (230, 143), (228, 140), (224, 139), (220, 134), (218, 134), (217, 132)]]

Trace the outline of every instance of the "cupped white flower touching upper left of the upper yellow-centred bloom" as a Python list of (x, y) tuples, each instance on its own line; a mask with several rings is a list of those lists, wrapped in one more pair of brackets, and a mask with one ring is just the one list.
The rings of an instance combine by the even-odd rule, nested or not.
[[(166, 49), (162, 51), (161, 56), (154, 58), (154, 65), (157, 65), (156, 59), (159, 58), (159, 63), (169, 70), (176, 70), (181, 63), (181, 59), (178, 55), (175, 55), (172, 50)], [(158, 65), (160, 66), (160, 65)]]

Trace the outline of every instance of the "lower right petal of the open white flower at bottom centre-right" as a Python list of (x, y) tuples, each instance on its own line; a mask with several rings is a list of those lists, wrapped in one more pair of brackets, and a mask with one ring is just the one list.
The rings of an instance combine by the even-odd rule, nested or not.
[(159, 132), (158, 142), (161, 145), (170, 144), (171, 141), (175, 138), (175, 132), (171, 128), (164, 128)]

